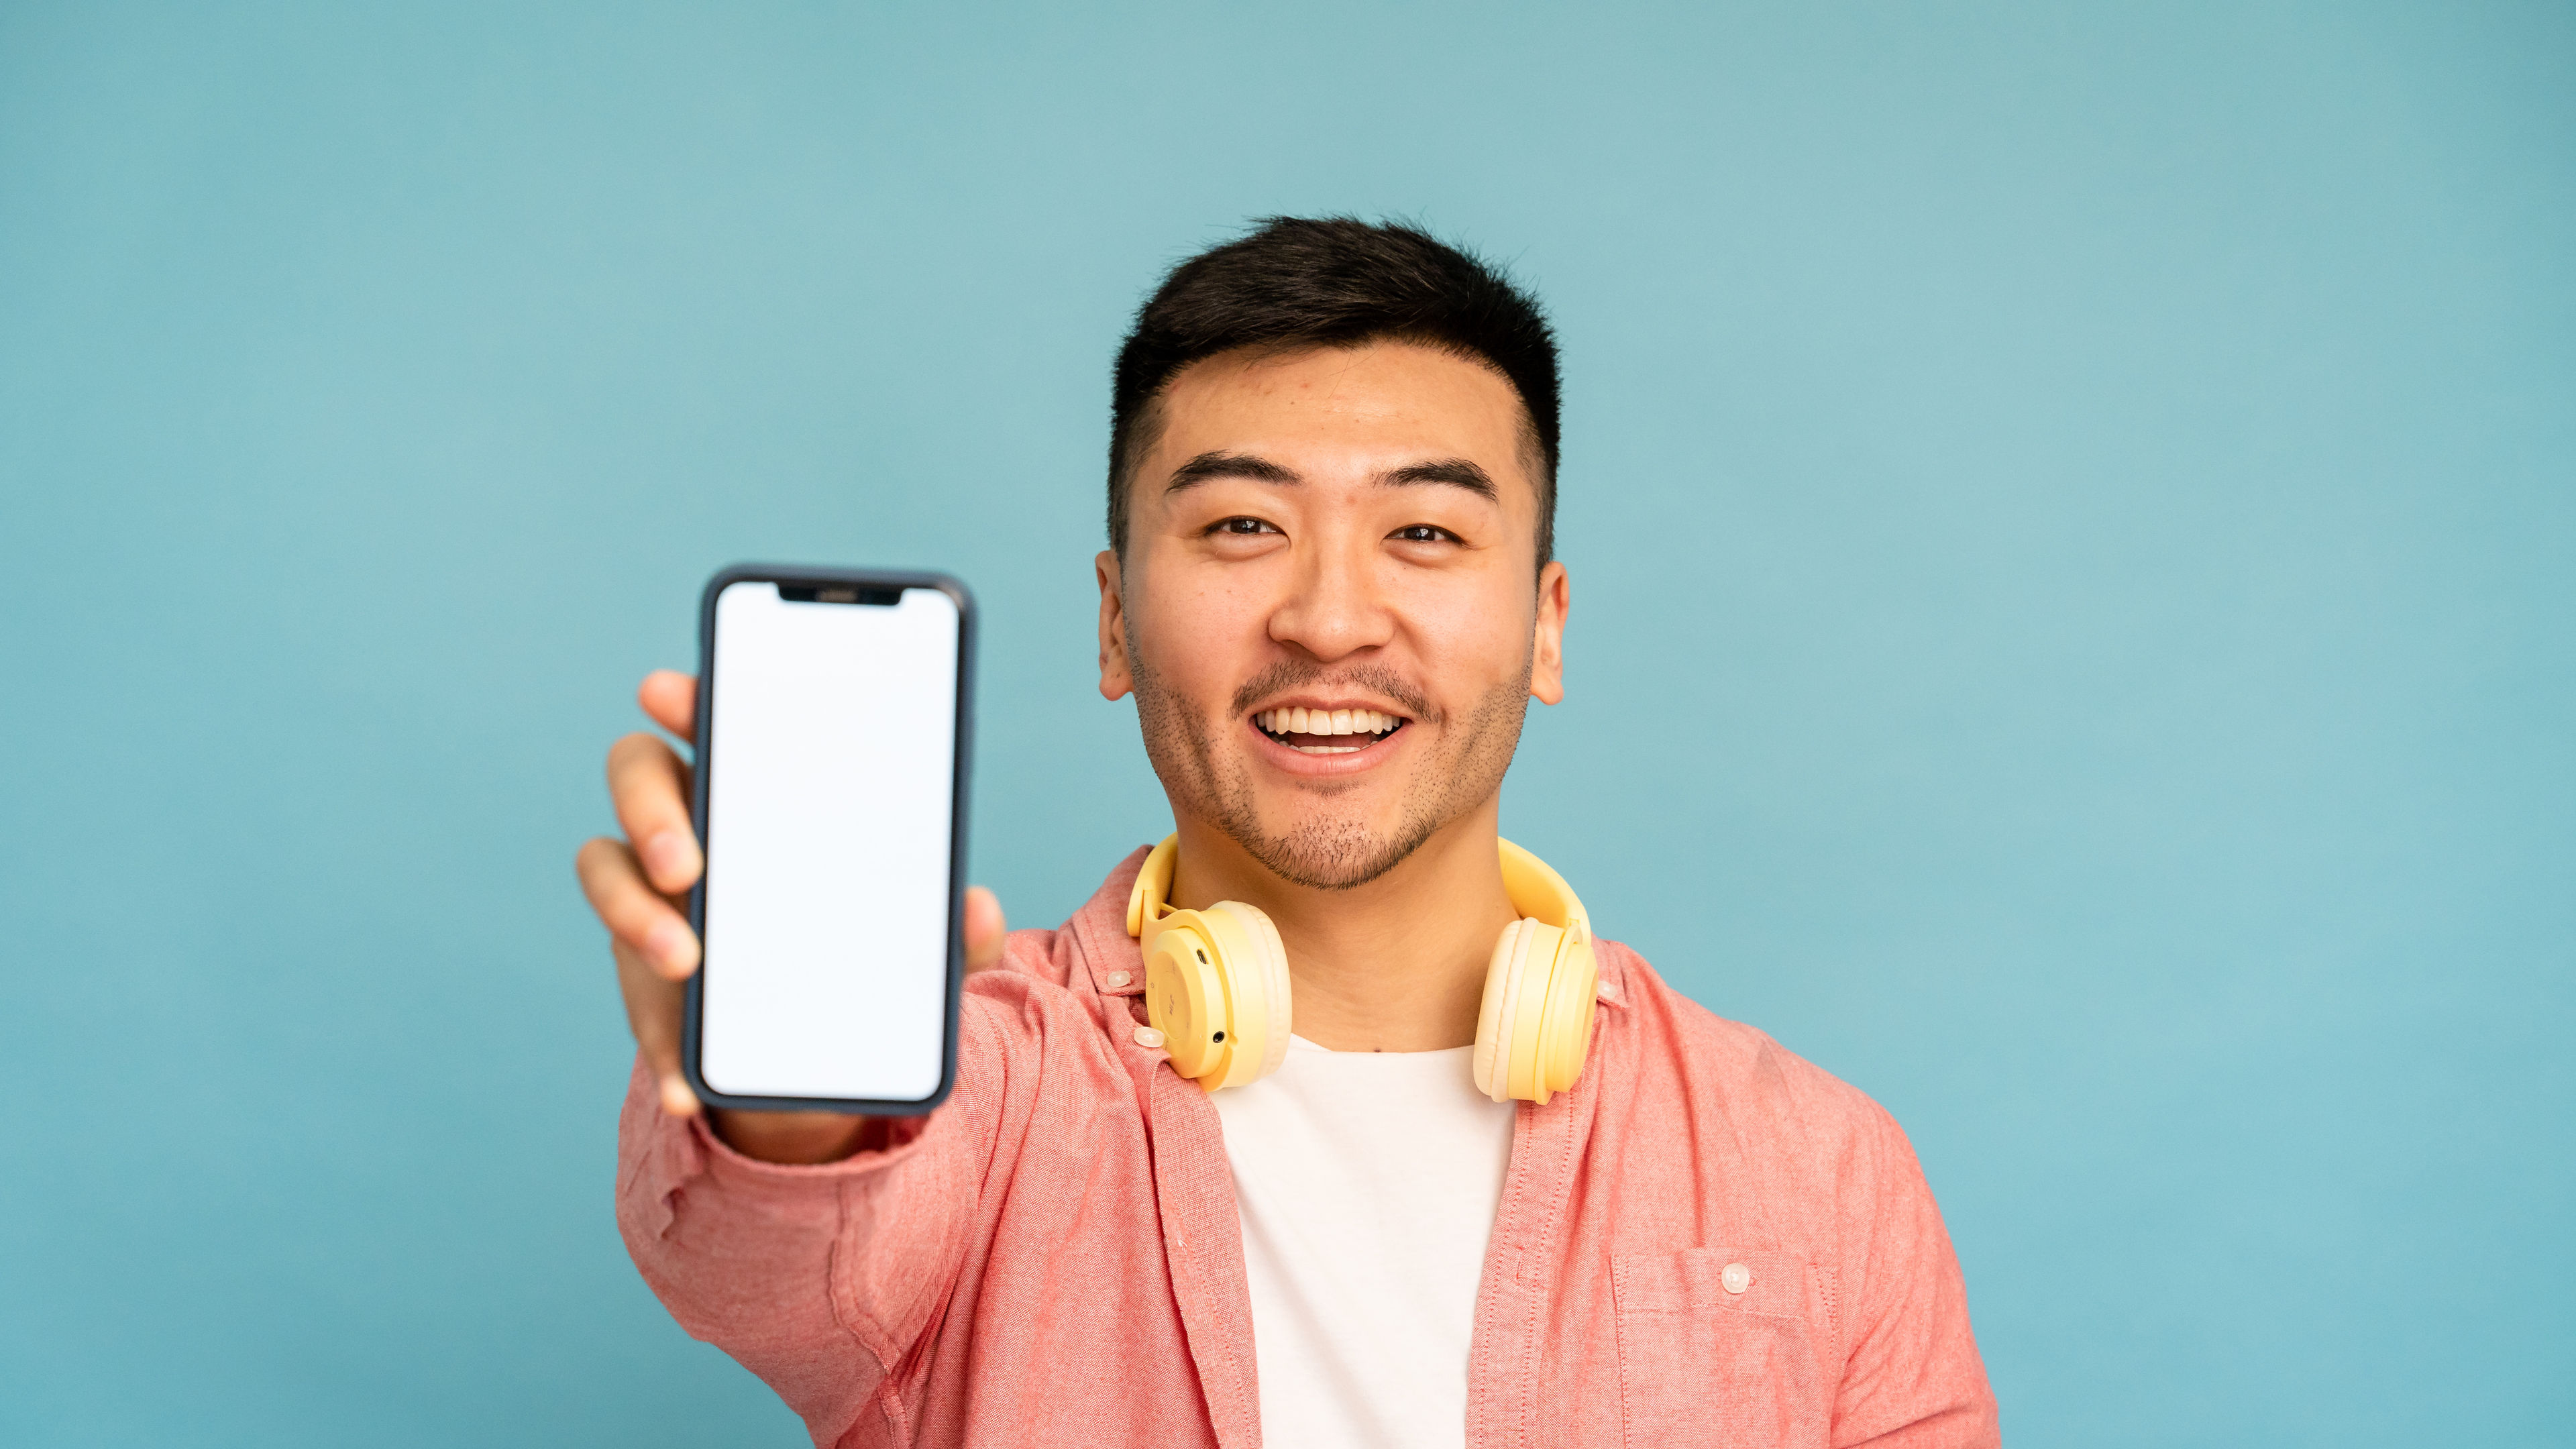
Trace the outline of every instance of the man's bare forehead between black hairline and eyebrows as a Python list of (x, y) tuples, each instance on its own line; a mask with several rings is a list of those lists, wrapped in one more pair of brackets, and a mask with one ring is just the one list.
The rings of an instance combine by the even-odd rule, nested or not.
[(1146, 477), (1208, 451), (1296, 454), (1301, 472), (1466, 456), (1533, 487), (1522, 462), (1530, 423), (1512, 384), (1419, 343), (1239, 348), (1182, 369), (1157, 407)]

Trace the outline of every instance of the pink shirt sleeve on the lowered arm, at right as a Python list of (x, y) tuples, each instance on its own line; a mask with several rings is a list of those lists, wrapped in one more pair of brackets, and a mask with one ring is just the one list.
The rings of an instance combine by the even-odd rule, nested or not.
[(1875, 1104), (1870, 1220), (1850, 1356), (1834, 1397), (1834, 1444), (1850, 1449), (1989, 1449), (2002, 1444), (1994, 1390), (1968, 1328), (1950, 1232), (1904, 1129)]

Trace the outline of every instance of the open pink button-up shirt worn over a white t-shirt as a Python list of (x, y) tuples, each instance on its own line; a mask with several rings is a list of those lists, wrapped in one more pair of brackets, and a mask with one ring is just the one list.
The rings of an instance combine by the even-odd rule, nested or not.
[[(636, 1070), (626, 1248), (814, 1444), (1260, 1444), (1216, 1109), (1136, 1044), (1141, 861), (1010, 936), (966, 982), (951, 1101), (855, 1158), (755, 1163)], [(1468, 1444), (1996, 1444), (1896, 1122), (1636, 951), (1602, 941), (1600, 972), (1582, 1080), (1512, 1132)]]

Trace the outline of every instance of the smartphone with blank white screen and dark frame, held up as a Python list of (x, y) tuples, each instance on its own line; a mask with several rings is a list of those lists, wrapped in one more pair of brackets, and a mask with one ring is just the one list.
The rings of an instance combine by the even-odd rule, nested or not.
[(711, 1106), (922, 1114), (956, 1080), (974, 598), (737, 565), (698, 603), (680, 1062)]

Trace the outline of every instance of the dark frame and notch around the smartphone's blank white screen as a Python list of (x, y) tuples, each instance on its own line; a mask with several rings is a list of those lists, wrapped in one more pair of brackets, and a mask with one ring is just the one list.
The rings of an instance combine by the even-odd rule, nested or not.
[(732, 565), (706, 580), (706, 590), (698, 596), (698, 730), (693, 740), (698, 768), (690, 789), (690, 828), (698, 830), (706, 869), (698, 874), (698, 884), (688, 892), (688, 926), (698, 933), (698, 941), (706, 941), (706, 879), (716, 869), (716, 848), (714, 841), (706, 838), (706, 799), (714, 789), (714, 753), (708, 750), (708, 743), (714, 740), (716, 724), (716, 596), (737, 583), (778, 583), (786, 588), (935, 588), (958, 606), (958, 717), (948, 789), (948, 1011), (945, 1036), (940, 1042), (940, 1085), (920, 1101), (729, 1096), (708, 1088), (706, 1078), (698, 1073), (698, 1024), (703, 1011), (701, 982), (706, 980), (708, 967), (703, 959), (688, 977), (688, 1016), (680, 1024), (680, 1070), (688, 1075), (688, 1085), (698, 1093), (698, 1101), (729, 1111), (922, 1116), (948, 1101), (948, 1091), (956, 1085), (958, 1075), (958, 993), (966, 982), (966, 779), (971, 773), (969, 745), (974, 740), (974, 593), (969, 593), (961, 580), (943, 572), (835, 570), (799, 565)]

